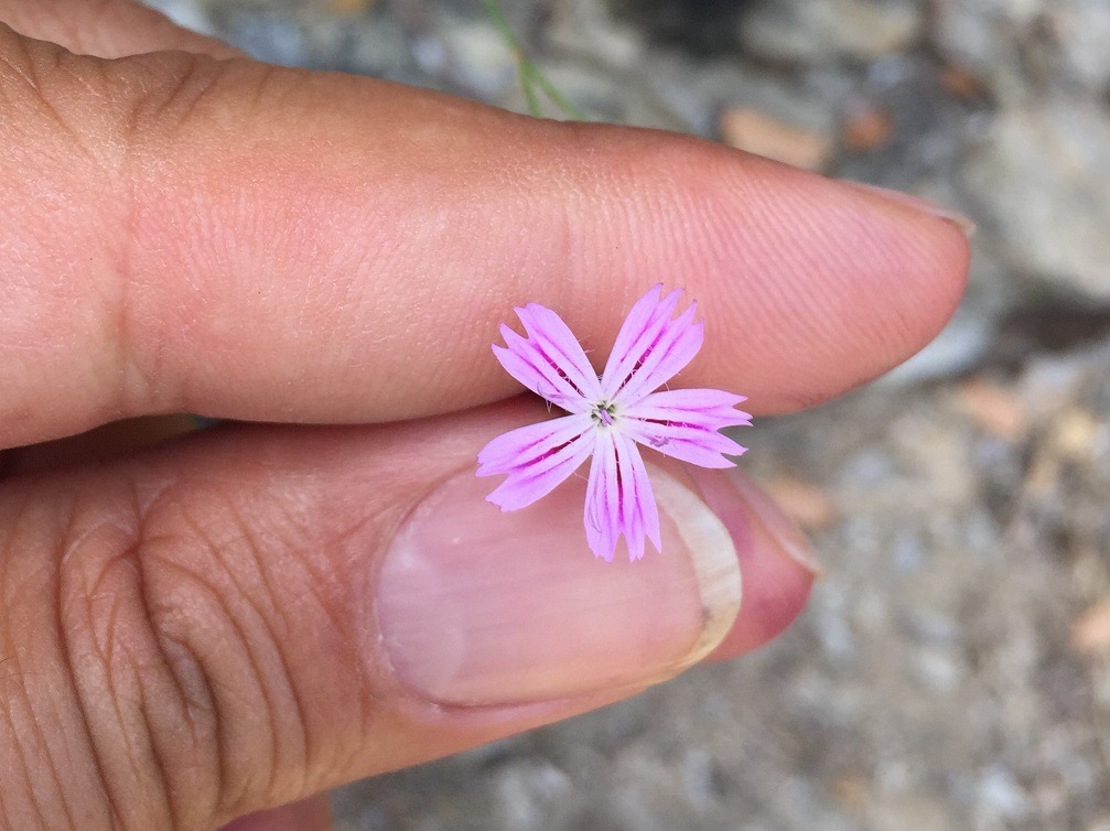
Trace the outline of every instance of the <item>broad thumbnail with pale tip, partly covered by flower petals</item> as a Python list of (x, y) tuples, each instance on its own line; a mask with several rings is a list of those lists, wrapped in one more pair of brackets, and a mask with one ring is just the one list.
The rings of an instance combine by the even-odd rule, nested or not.
[(377, 578), (380, 649), (413, 695), (514, 705), (659, 682), (725, 638), (740, 606), (731, 535), (688, 487), (650, 470), (663, 554), (596, 559), (574, 477), (502, 513), (466, 472), (432, 494)]

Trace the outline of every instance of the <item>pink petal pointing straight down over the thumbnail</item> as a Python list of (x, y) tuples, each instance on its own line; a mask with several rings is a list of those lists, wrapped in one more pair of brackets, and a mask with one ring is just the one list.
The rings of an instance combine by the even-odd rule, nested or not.
[(639, 449), (616, 430), (601, 430), (586, 487), (586, 539), (593, 553), (613, 560), (623, 534), (628, 559), (644, 556), (644, 537), (663, 549), (659, 514)]

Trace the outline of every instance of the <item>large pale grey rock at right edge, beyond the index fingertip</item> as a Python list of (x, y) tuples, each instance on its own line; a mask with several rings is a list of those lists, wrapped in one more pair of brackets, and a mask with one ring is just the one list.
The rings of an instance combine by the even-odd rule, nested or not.
[(963, 176), (1029, 287), (1110, 304), (1110, 113), (1076, 99), (1003, 111)]

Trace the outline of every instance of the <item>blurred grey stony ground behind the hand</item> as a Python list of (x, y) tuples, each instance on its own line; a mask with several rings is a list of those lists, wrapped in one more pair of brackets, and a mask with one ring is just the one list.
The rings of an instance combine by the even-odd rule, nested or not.
[[(264, 60), (525, 109), (480, 0), (149, 1)], [(1110, 2), (505, 12), (593, 119), (967, 213), (971, 286), (890, 377), (745, 432), (828, 572), (780, 641), (352, 786), (337, 827), (1110, 831)]]

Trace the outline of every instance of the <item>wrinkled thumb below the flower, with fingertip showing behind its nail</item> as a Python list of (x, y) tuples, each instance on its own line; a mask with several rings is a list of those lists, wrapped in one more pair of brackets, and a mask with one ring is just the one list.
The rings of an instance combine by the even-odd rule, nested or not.
[(10, 827), (211, 829), (632, 696), (800, 610), (811, 570), (724, 478), (654, 470), (666, 554), (636, 564), (591, 556), (581, 480), (498, 513), (474, 456), (534, 416), (228, 426), (0, 485)]

